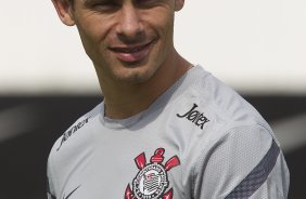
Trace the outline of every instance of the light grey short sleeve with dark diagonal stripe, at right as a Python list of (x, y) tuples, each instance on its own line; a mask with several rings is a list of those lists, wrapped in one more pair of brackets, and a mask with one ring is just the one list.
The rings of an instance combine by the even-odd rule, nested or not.
[(232, 128), (202, 154), (194, 168), (195, 199), (286, 198), (288, 167), (266, 128)]

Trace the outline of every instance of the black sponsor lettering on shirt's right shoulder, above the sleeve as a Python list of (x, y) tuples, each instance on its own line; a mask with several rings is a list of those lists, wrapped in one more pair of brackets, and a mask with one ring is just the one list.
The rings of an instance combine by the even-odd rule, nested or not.
[(200, 112), (195, 108), (197, 107), (196, 104), (193, 104), (193, 107), (186, 112), (184, 115), (177, 114), (179, 118), (186, 118), (189, 121), (193, 122), (195, 125), (200, 127), (201, 129), (204, 128), (204, 124), (207, 123), (209, 120), (204, 116), (203, 112)]

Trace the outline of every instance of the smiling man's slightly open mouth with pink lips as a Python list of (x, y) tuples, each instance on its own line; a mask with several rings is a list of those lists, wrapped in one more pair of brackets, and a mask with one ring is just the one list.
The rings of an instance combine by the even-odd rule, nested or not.
[(135, 63), (143, 59), (150, 53), (151, 47), (153, 45), (154, 40), (135, 45), (127, 47), (111, 47), (109, 48), (119, 61), (126, 63)]

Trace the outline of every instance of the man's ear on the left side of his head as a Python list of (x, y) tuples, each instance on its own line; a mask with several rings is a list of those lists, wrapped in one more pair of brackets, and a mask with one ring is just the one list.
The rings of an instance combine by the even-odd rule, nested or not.
[(69, 0), (52, 0), (60, 19), (67, 26), (74, 26), (75, 21), (72, 14), (72, 4)]

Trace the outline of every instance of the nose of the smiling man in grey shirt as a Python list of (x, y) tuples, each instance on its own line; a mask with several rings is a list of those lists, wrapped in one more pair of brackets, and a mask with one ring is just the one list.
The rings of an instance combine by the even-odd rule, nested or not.
[(143, 37), (141, 14), (132, 4), (123, 5), (116, 32), (124, 42), (137, 42)]

